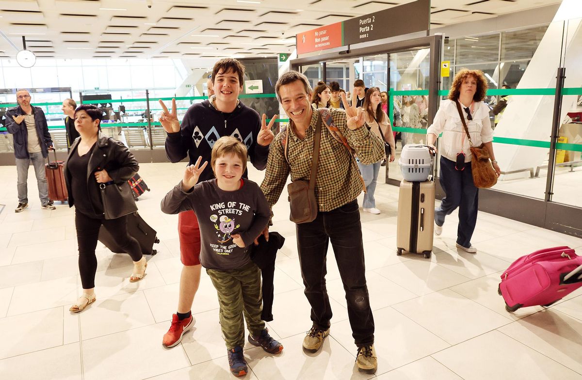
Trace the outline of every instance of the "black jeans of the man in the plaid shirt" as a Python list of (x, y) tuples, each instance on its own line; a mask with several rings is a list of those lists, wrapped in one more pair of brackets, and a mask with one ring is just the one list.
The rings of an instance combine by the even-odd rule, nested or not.
[(297, 249), (305, 295), (311, 305), (311, 320), (323, 330), (329, 328), (332, 317), (325, 287), (330, 241), (346, 291), (352, 336), (358, 347), (371, 345), (374, 343), (374, 317), (365, 282), (364, 243), (357, 200), (332, 211), (320, 211), (313, 222), (297, 224)]

